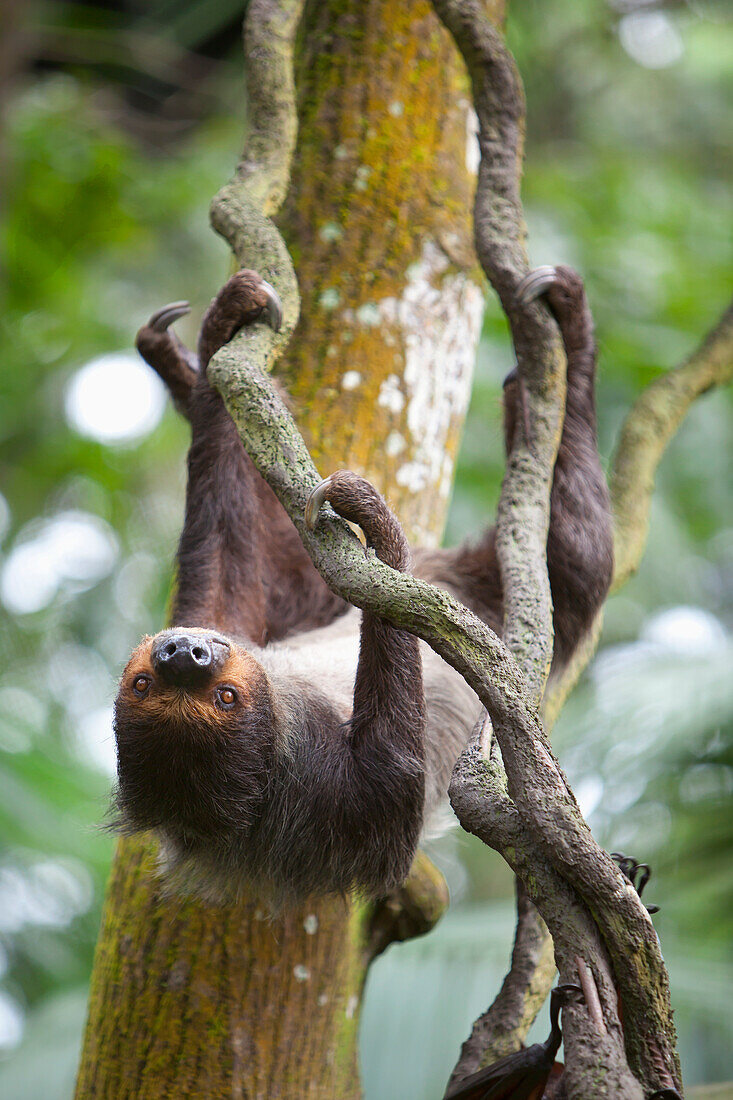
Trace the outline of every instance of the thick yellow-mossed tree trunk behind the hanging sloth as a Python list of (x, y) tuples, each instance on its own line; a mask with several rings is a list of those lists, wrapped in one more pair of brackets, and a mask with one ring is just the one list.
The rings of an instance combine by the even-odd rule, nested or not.
[[(427, 0), (320, 0), (304, 18), (300, 132), (282, 224), (303, 295), (282, 374), (324, 473), (442, 531), (481, 319), (464, 75)], [(318, 899), (167, 898), (150, 838), (114, 858), (77, 1098), (360, 1096), (368, 913)]]

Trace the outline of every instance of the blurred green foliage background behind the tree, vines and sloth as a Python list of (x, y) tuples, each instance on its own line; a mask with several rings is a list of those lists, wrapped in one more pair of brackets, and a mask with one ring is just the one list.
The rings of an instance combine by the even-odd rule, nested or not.
[[(59, 12), (73, 34), (73, 7)], [(129, 25), (163, 52), (193, 50), (220, 30), (221, 12), (207, 23), (208, 12), (188, 6), (178, 25), (149, 11)], [(730, 295), (723, 6), (653, 8), (656, 31), (633, 25), (639, 12), (525, 0), (508, 28), (527, 89), (532, 257), (586, 276), (605, 455), (634, 396), (692, 350)], [(109, 19), (96, 12), (113, 38), (119, 16)], [(26, 76), (6, 111), (0, 578), (22, 575), (13, 556), (47, 549), (59, 517), (91, 525), (107, 564), (59, 573), (35, 610), (18, 610), (28, 597), (2, 590), (0, 1093), (13, 1100), (72, 1092), (113, 844), (100, 827), (109, 706), (130, 648), (164, 622), (183, 508), (186, 432), (175, 415), (144, 438), (102, 443), (69, 427), (68, 385), (85, 363), (129, 349), (163, 301), (188, 298), (200, 316), (228, 270), (207, 206), (242, 130), (239, 88), (225, 81), (227, 110), (209, 102), (185, 139), (156, 153), (114, 121), (98, 75), (67, 68)], [(193, 339), (193, 327), (180, 331)], [(493, 515), (511, 365), (490, 300), (451, 540)], [(730, 394), (708, 395), (670, 448), (644, 564), (610, 602), (599, 660), (556, 734), (601, 843), (654, 865), (648, 897), (663, 905), (656, 925), (689, 1081), (733, 1077), (731, 424)], [(370, 977), (363, 1069), (368, 1097), (381, 1100), (440, 1094), (508, 958), (506, 869), (458, 832), (434, 855), (451, 914)]]

